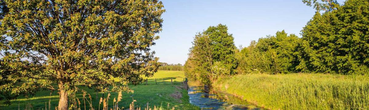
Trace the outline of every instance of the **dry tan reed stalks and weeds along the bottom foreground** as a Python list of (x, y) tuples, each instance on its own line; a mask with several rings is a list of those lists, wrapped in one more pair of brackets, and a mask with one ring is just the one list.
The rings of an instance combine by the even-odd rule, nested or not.
[[(178, 90), (181, 91), (182, 93), (178, 92), (178, 94), (182, 95), (182, 98), (180, 99), (180, 101), (182, 102), (182, 106), (186, 106), (186, 109), (188, 110), (200, 110), (199, 107), (194, 106), (192, 104), (189, 103), (189, 96), (187, 94), (187, 90), (183, 89), (184, 85), (181, 86), (176, 86), (178, 87)], [(111, 100), (111, 94), (108, 93), (106, 98), (100, 98), (100, 100), (93, 100), (92, 96), (90, 94), (88, 94), (85, 90), (82, 89), (82, 99), (76, 96), (69, 96), (69, 110), (141, 110), (141, 106), (137, 106), (135, 105), (135, 102), (137, 102), (137, 100), (134, 100), (132, 98), (132, 102), (129, 104), (128, 108), (124, 108), (123, 106), (119, 106), (119, 102), (122, 101), (123, 99), (123, 94), (122, 92), (117, 92), (118, 95), (117, 97), (114, 97), (113, 100)], [(149, 97), (146, 97), (149, 98)], [(110, 102), (109, 102), (110, 100)], [(92, 102), (99, 102), (98, 104), (93, 104)], [(113, 101), (113, 102), (111, 102)], [(55, 108), (51, 107), (51, 99), (49, 99), (48, 103), (46, 104), (45, 102), (45, 106), (42, 107), (42, 109), (34, 109), (32, 106), (32, 103), (28, 103), (25, 104), (25, 107), (20, 107), (18, 104), (18, 110), (58, 110), (58, 108), (55, 106)], [(97, 106), (98, 105), (98, 106)], [(166, 107), (163, 107), (165, 106)], [(183, 108), (182, 108), (183, 109)], [(0, 108), (0, 110), (2, 110)], [(142, 110), (181, 110), (180, 107), (178, 105), (170, 105), (170, 103), (164, 104), (163, 102), (161, 103), (160, 107), (159, 105), (154, 105), (154, 107), (149, 106), (149, 102), (147, 102), (147, 104), (142, 107)]]

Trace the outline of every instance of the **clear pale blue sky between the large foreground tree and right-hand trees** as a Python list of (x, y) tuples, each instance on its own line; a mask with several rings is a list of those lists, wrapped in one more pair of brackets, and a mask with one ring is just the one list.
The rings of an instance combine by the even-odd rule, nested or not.
[[(337, 0), (343, 4), (343, 0)], [(209, 26), (223, 24), (236, 47), (247, 47), (277, 31), (300, 36), (315, 10), (301, 0), (162, 0), (160, 38), (151, 49), (159, 62), (184, 64), (193, 37)], [(301, 36), (300, 36), (301, 37)]]

